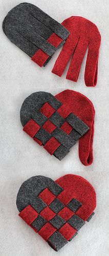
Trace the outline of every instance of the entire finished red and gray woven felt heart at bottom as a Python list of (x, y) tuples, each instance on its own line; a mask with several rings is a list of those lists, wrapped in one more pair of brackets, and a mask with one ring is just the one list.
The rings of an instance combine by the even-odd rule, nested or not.
[(16, 205), (19, 216), (58, 251), (93, 217), (96, 193), (77, 175), (65, 175), (55, 182), (34, 176), (20, 186)]

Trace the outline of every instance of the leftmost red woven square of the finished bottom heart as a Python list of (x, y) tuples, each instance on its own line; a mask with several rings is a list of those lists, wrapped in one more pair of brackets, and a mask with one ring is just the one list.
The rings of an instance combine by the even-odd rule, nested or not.
[(24, 210), (19, 212), (19, 216), (30, 225), (37, 218), (38, 212), (31, 205), (28, 205)]

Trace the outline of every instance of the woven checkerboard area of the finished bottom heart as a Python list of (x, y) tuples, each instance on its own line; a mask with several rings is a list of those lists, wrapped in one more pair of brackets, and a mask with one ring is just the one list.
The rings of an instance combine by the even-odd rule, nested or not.
[(60, 191), (53, 193), (50, 187), (45, 188), (35, 198), (35, 203), (29, 204), (19, 213), (19, 216), (56, 251), (70, 242), (85, 224), (85, 221), (76, 215), (82, 206), (81, 202), (73, 198), (69, 203), (63, 203), (63, 199), (61, 202), (58, 197), (61, 198)]

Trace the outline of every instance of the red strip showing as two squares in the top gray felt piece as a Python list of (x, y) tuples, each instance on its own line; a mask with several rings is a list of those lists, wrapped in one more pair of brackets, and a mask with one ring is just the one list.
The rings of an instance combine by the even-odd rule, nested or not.
[[(63, 41), (58, 35), (53, 33), (47, 40), (50, 42), (51, 45), (55, 46), (56, 48), (60, 45), (60, 43)], [(41, 49), (39, 49), (33, 56), (32, 60), (39, 66), (42, 67), (46, 60), (49, 58), (49, 55), (45, 52), (43, 52)]]

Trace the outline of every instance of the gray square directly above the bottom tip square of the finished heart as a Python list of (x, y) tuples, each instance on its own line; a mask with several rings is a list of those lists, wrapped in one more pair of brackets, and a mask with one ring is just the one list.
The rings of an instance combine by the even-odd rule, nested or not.
[(56, 215), (49, 222), (57, 229), (60, 229), (66, 223), (59, 215)]

